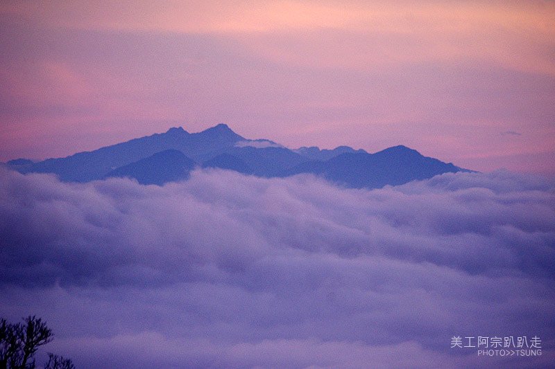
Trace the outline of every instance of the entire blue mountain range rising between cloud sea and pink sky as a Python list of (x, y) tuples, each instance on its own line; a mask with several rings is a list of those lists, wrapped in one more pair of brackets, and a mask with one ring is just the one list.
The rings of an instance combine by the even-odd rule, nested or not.
[(311, 173), (350, 188), (395, 186), (445, 172), (467, 171), (402, 145), (374, 154), (348, 146), (290, 150), (273, 141), (241, 137), (225, 124), (193, 134), (174, 127), (162, 134), (65, 158), (37, 163), (16, 159), (6, 165), (22, 173), (53, 173), (62, 181), (74, 182), (130, 177), (142, 184), (163, 185), (187, 179), (191, 170), (203, 167), (257, 177)]

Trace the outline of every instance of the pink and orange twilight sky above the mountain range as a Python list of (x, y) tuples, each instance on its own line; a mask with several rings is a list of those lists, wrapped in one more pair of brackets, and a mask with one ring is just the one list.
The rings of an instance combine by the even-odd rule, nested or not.
[(226, 123), (555, 173), (553, 1), (2, 1), (0, 161)]

